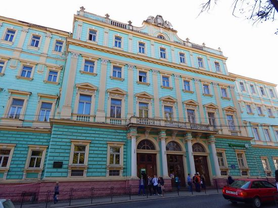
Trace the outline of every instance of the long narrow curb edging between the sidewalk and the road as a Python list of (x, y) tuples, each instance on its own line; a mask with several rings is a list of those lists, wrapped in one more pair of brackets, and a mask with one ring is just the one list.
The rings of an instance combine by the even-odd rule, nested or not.
[(168, 199), (168, 198), (179, 198), (179, 197), (195, 197), (195, 196), (209, 196), (209, 195), (216, 195), (222, 193), (206, 193), (206, 194), (196, 194), (196, 195), (184, 195), (184, 196), (166, 196), (166, 197), (159, 197), (159, 198), (143, 198), (143, 199), (134, 199), (134, 200), (123, 200), (123, 201), (111, 201), (111, 202), (99, 202), (99, 203), (89, 203), (83, 205), (72, 205), (72, 206), (61, 206), (60, 208), (79, 208), (79, 207), (91, 207), (91, 206), (101, 206), (101, 205), (109, 205), (109, 204), (119, 204), (125, 202), (136, 202), (136, 201), (148, 201), (148, 200), (159, 200), (159, 199)]

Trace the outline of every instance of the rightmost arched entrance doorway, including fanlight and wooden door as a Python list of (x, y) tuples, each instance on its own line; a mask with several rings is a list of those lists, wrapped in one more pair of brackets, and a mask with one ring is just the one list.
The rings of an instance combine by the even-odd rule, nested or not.
[(205, 147), (200, 143), (195, 143), (192, 145), (192, 150), (194, 154), (194, 163), (196, 173), (202, 176), (204, 175), (206, 185), (210, 185), (208, 161), (207, 161), (207, 151)]

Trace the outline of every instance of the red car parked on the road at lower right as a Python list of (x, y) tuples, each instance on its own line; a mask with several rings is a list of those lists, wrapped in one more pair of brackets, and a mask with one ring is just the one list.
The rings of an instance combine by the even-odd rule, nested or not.
[(266, 180), (239, 179), (230, 186), (223, 187), (223, 197), (231, 203), (252, 203), (253, 207), (260, 207), (263, 202), (274, 201), (276, 186)]

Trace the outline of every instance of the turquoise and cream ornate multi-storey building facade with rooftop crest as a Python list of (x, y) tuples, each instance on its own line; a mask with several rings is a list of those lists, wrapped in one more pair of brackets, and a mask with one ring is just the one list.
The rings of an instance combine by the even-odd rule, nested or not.
[[(81, 8), (72, 34), (0, 24), (4, 186), (117, 187), (142, 172), (182, 184), (199, 172), (209, 184), (278, 168), (276, 85), (228, 73), (220, 48), (182, 40), (160, 15), (135, 27)], [(269, 114), (253, 120), (245, 103)]]

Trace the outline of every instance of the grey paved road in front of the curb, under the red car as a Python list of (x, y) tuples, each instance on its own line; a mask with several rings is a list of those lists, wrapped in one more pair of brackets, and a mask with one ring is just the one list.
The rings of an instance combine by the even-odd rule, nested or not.
[[(102, 206), (88, 206), (93, 208), (245, 208), (251, 207), (247, 206), (245, 203), (238, 203), (237, 205), (231, 204), (229, 201), (225, 200), (221, 194), (208, 195), (208, 196), (187, 196), (179, 198), (160, 198), (158, 200), (149, 201), (136, 201), (118, 204), (109, 204)], [(262, 208), (274, 208), (276, 207), (274, 203), (263, 204)]]

